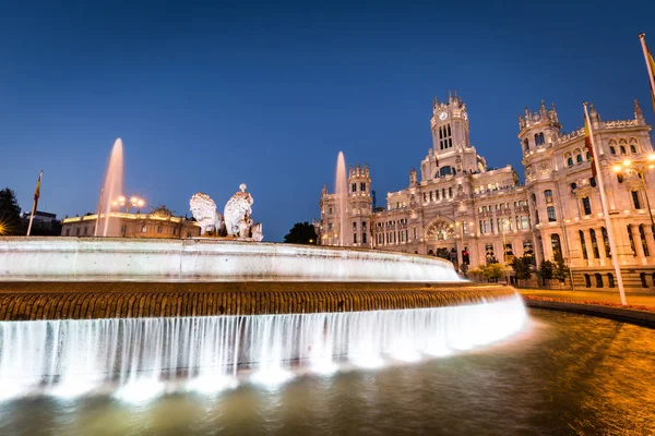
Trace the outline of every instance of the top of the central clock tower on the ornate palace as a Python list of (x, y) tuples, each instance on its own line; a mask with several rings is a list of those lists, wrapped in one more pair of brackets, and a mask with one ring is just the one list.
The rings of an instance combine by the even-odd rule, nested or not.
[(449, 155), (461, 147), (471, 147), (466, 105), (456, 92), (454, 95), (449, 93), (448, 101), (440, 102), (434, 98), (430, 126), (432, 147), (437, 156)]

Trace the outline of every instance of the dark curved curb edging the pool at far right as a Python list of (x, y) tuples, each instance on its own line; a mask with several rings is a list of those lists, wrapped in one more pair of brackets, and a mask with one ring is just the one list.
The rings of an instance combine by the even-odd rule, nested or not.
[(615, 319), (623, 323), (636, 324), (644, 327), (655, 328), (655, 312), (600, 306), (595, 304), (569, 303), (561, 301), (531, 300), (526, 298), (523, 298), (523, 301), (528, 307), (572, 312), (582, 315), (598, 316), (602, 318)]

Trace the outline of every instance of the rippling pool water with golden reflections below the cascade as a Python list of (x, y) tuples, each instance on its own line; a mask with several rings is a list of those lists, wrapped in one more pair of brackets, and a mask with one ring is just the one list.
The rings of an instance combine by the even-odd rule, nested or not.
[(532, 312), (527, 332), (382, 370), (164, 395), (0, 403), (0, 434), (655, 434), (655, 330)]

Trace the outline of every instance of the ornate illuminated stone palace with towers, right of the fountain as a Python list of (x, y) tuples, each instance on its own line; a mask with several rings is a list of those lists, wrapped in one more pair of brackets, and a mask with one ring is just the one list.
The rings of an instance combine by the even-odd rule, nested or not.
[[(582, 108), (580, 112), (582, 121)], [(603, 121), (593, 105), (590, 118), (623, 281), (630, 288), (653, 288), (651, 126), (636, 101), (632, 119)], [(350, 168), (344, 220), (353, 230), (348, 241), (338, 241), (341, 210), (335, 195), (323, 187), (322, 244), (440, 255), (455, 264), (467, 262), (471, 268), (524, 255), (534, 256), (538, 265), (559, 251), (576, 287), (615, 286), (584, 129), (564, 133), (555, 106), (547, 109), (541, 102), (536, 112), (526, 108), (519, 118), (525, 171), (521, 184), (511, 166), (490, 169), (477, 154), (466, 105), (456, 93), (448, 101), (434, 100), (430, 126), (432, 147), (420, 172), (412, 169), (408, 185), (386, 194), (385, 208), (371, 210), (368, 167)], [(631, 171), (612, 171), (626, 160)]]

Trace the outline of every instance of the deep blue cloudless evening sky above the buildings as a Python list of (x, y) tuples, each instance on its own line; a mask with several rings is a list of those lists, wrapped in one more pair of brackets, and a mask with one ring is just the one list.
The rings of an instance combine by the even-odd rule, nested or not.
[[(11, 4), (13, 3), (13, 4)], [(248, 183), (266, 240), (319, 217), (338, 150), (368, 162), (378, 205), (431, 146), (434, 96), (457, 89), (489, 166), (523, 175), (517, 113), (583, 100), (653, 120), (639, 32), (655, 1), (0, 2), (0, 185), (29, 209), (95, 209), (110, 147), (128, 193), (188, 211)], [(60, 3), (60, 4), (58, 4)], [(532, 4), (534, 3), (534, 5)], [(135, 5), (139, 4), (139, 5)]]

